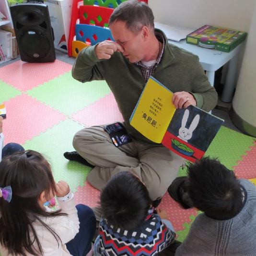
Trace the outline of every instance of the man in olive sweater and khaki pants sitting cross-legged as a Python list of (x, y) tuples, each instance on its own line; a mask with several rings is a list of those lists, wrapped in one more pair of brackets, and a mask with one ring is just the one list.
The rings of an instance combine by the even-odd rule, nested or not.
[(82, 49), (72, 76), (81, 82), (107, 82), (132, 141), (116, 147), (104, 125), (94, 126), (78, 131), (73, 140), (76, 151), (65, 152), (64, 156), (92, 166), (87, 180), (97, 189), (118, 172), (134, 173), (147, 186), (156, 205), (184, 159), (148, 140), (129, 124), (146, 82), (153, 76), (171, 90), (176, 108), (195, 105), (210, 111), (217, 103), (217, 93), (198, 57), (169, 44), (164, 33), (154, 29), (153, 13), (144, 2), (122, 2), (110, 17), (109, 28), (115, 42), (104, 41)]

